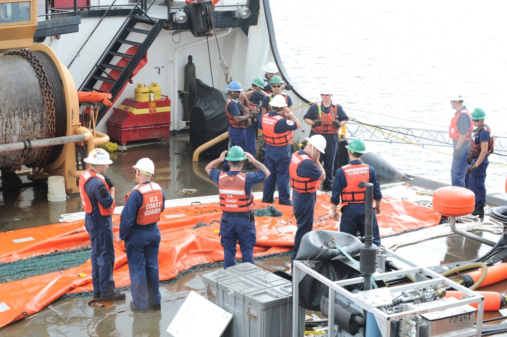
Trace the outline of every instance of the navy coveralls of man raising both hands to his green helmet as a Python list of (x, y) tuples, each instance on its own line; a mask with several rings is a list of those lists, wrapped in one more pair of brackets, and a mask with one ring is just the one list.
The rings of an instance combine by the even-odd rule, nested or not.
[[(218, 184), (219, 169), (211, 169), (210, 177)], [(229, 171), (227, 174), (237, 175), (240, 171)], [(252, 194), (252, 186), (266, 178), (264, 171), (247, 172), (245, 179), (245, 192), (247, 196)], [(255, 232), (255, 220), (249, 221), (245, 212), (222, 212), (220, 219), (220, 243), (224, 248), (224, 269), (236, 265), (236, 244), (240, 244), (243, 263), (253, 261), (253, 248), (257, 243)]]

